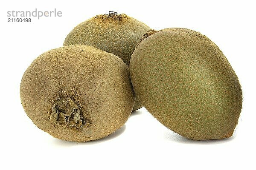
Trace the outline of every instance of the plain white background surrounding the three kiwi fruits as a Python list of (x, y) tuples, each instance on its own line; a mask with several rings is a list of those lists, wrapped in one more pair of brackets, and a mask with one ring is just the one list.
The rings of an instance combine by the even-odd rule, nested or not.
[[(255, 169), (255, 4), (252, 1), (26, 1), (0, 5), (0, 166), (1, 169)], [(51, 11), (62, 17), (7, 23), (7, 11)], [(154, 29), (184, 27), (215, 42), (241, 82), (243, 109), (232, 137), (192, 141), (161, 125), (145, 108), (98, 141), (55, 139), (38, 129), (20, 104), (21, 77), (41, 53), (62, 46), (77, 24), (117, 11)]]

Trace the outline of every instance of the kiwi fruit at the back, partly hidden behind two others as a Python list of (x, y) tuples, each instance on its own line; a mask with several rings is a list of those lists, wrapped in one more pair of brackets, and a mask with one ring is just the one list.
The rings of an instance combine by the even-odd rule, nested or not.
[[(67, 35), (65, 45), (90, 45), (120, 57), (129, 67), (131, 54), (140, 38), (150, 29), (144, 23), (126, 14), (96, 15), (78, 26)], [(134, 111), (142, 108), (136, 100)]]

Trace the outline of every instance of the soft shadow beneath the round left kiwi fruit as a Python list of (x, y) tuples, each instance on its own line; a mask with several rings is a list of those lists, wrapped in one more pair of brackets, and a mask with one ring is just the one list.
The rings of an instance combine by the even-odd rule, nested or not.
[(99, 144), (101, 142), (106, 142), (109, 141), (111, 139), (116, 138), (117, 136), (121, 135), (126, 129), (126, 125), (123, 125), (122, 127), (120, 127), (118, 130), (116, 130), (115, 132), (111, 133), (110, 135), (102, 138), (102, 139), (98, 139), (98, 140), (94, 140), (94, 141), (88, 141), (88, 142), (70, 142), (70, 141), (64, 141), (61, 139), (53, 139), (53, 144), (57, 145), (57, 146), (61, 146), (61, 147), (70, 147), (70, 146), (75, 146), (75, 145), (92, 145), (92, 144)]

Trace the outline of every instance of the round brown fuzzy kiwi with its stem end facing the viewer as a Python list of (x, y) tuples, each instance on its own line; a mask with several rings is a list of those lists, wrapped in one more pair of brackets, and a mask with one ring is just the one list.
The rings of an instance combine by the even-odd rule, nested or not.
[(32, 62), (20, 83), (20, 99), (40, 129), (59, 139), (87, 142), (122, 127), (135, 95), (128, 67), (119, 57), (70, 45)]

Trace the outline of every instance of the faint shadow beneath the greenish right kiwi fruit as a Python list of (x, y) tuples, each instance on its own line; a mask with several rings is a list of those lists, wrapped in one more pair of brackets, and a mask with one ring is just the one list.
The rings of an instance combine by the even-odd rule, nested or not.
[(230, 142), (233, 139), (235, 139), (236, 133), (234, 131), (234, 134), (231, 137), (225, 138), (225, 139), (211, 139), (211, 140), (199, 141), (199, 140), (192, 140), (192, 139), (183, 137), (183, 136), (171, 131), (171, 132), (165, 134), (165, 138), (169, 141), (182, 143), (182, 144), (222, 144), (222, 143)]

